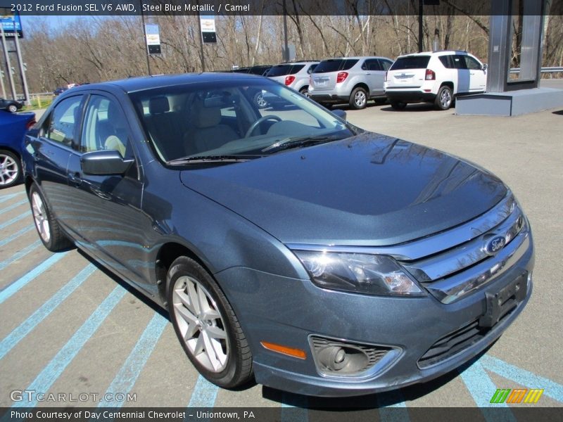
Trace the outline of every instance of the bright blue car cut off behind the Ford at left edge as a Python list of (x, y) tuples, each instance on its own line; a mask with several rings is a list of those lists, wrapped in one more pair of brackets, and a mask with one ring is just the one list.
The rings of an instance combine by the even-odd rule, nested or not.
[(20, 180), (23, 136), (34, 123), (35, 113), (0, 110), (0, 189), (9, 188)]

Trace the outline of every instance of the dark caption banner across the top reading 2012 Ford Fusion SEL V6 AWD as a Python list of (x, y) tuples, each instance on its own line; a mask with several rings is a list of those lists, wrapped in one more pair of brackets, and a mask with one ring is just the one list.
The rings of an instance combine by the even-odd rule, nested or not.
[[(512, 0), (0, 0), (20, 15), (491, 15), (493, 2)], [(526, 4), (543, 3), (544, 15), (563, 15), (563, 0), (518, 0), (513, 15), (539, 14)], [(533, 8), (536, 10), (536, 8)]]

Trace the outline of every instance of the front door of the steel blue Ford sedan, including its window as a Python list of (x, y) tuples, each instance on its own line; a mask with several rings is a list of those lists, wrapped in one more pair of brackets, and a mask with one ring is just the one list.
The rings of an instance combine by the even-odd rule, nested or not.
[[(125, 174), (85, 174), (84, 154), (112, 149), (133, 164)], [(133, 281), (145, 284), (144, 262), (150, 252), (146, 234), (152, 227), (141, 211), (143, 181), (134, 153), (129, 124), (119, 101), (109, 94), (91, 94), (84, 111), (79, 147), (68, 162), (68, 177), (74, 188), (77, 219), (83, 246), (103, 262)]]

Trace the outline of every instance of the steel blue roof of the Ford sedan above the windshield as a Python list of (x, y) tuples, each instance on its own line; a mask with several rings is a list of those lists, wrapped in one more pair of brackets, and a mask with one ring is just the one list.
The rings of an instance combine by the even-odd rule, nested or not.
[[(143, 91), (145, 89), (171, 87), (182, 84), (195, 84), (205, 82), (218, 82), (232, 79), (255, 79), (261, 78), (258, 75), (249, 73), (182, 73), (178, 75), (153, 75), (141, 77), (129, 77), (127, 79), (118, 79), (115, 81), (99, 82), (88, 84), (85, 86), (72, 88), (72, 92), (89, 91), (92, 89), (103, 89), (114, 87), (122, 89), (125, 92)], [(70, 90), (69, 90), (70, 91)]]

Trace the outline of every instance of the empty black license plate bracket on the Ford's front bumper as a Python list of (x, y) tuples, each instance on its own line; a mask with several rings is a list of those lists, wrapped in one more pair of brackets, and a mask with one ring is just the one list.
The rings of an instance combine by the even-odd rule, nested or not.
[(495, 326), (502, 316), (517, 307), (526, 298), (527, 281), (527, 273), (524, 273), (496, 292), (485, 292), (486, 309), (484, 314), (479, 317), (479, 327)]

